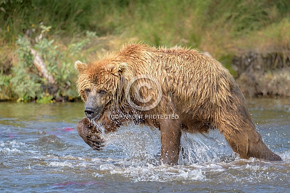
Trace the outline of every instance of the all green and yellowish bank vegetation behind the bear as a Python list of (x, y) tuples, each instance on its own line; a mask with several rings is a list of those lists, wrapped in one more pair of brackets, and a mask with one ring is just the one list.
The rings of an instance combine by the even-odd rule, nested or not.
[[(132, 39), (199, 47), (235, 75), (235, 55), (290, 50), (289, 29), (289, 0), (0, 0), (0, 99), (72, 100), (74, 61)], [(30, 48), (54, 84), (39, 76)]]

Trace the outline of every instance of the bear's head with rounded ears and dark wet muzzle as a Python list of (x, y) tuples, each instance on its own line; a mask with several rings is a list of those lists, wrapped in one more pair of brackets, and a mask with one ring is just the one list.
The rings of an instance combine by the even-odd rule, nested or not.
[(118, 101), (127, 64), (123, 62), (100, 60), (90, 63), (76, 61), (79, 72), (78, 94), (85, 102), (85, 115), (89, 120), (102, 120), (105, 111)]

